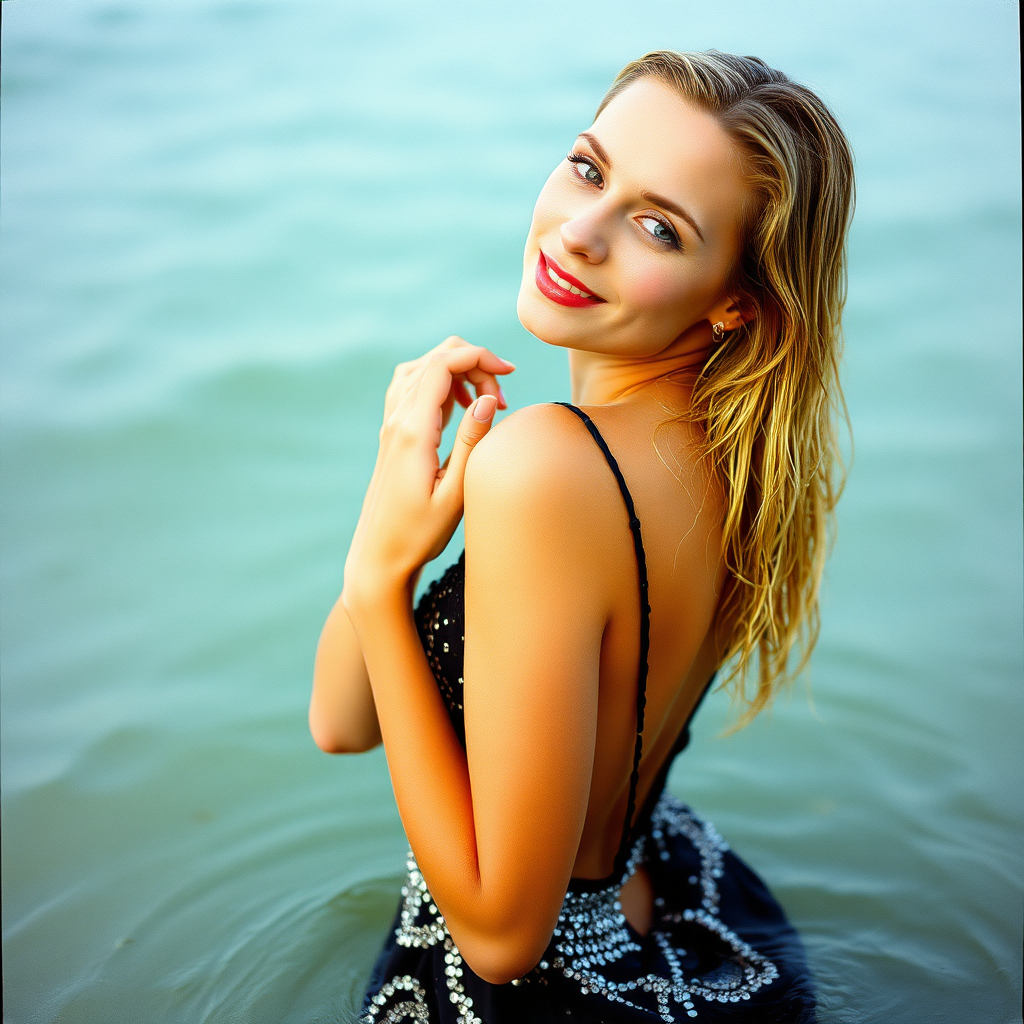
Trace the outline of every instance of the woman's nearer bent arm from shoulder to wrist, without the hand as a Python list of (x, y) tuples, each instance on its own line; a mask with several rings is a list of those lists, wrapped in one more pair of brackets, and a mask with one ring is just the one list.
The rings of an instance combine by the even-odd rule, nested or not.
[[(397, 581), (353, 571), (358, 633), (406, 833), (467, 964), (507, 982), (551, 937), (586, 818), (606, 588), (579, 458), (544, 407), (473, 452), (466, 476), (467, 751)], [(353, 566), (353, 569), (355, 566)]]

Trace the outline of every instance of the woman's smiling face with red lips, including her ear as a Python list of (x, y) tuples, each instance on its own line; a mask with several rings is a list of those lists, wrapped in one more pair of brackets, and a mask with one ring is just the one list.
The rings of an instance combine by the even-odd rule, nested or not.
[(739, 152), (715, 119), (639, 79), (541, 189), (519, 319), (548, 344), (592, 352), (707, 344), (711, 324), (739, 321), (724, 290), (746, 196)]

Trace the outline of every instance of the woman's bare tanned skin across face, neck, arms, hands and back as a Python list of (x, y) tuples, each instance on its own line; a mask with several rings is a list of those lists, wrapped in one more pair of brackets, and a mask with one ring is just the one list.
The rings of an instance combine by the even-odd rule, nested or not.
[[(727, 287), (749, 193), (724, 130), (654, 79), (616, 96), (572, 155), (538, 200), (518, 313), (568, 350), (572, 401), (607, 440), (642, 523), (652, 610), (639, 806), (718, 665), (722, 490), (697, 459), (697, 426), (654, 432), (689, 408), (712, 326), (754, 315)], [(541, 251), (603, 301), (570, 307), (543, 294)], [(512, 370), (450, 338), (395, 371), (309, 708), (325, 751), (383, 741), (431, 895), (466, 963), (496, 984), (536, 966), (570, 877), (611, 870), (640, 626), (622, 496), (584, 424), (544, 404), (490, 430), (506, 404), (499, 377)], [(441, 466), (456, 402), (469, 408)], [(413, 617), (420, 570), (463, 515), (465, 751)], [(645, 871), (622, 901), (645, 933)]]

